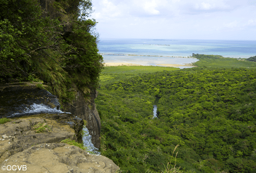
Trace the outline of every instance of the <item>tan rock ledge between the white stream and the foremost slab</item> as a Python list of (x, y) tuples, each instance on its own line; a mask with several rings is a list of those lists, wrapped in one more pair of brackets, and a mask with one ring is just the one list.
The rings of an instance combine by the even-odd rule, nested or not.
[[(50, 131), (36, 133), (33, 126), (38, 123), (46, 123)], [(79, 136), (82, 128), (83, 120), (71, 114), (38, 114), (0, 124), (0, 163), (32, 145), (61, 142), (68, 138), (82, 141)]]

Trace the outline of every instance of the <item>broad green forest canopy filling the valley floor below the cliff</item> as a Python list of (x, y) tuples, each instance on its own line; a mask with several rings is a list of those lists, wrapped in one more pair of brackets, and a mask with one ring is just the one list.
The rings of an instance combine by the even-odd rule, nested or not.
[(105, 68), (96, 99), (101, 153), (122, 171), (162, 172), (171, 159), (174, 167), (177, 154), (183, 172), (255, 172), (254, 69), (114, 74)]

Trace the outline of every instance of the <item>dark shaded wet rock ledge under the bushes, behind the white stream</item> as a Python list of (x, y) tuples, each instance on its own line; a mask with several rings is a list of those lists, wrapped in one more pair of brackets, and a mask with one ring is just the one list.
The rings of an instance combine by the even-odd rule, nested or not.
[(30, 109), (33, 104), (43, 104), (58, 110), (60, 103), (57, 96), (39, 89), (36, 85), (42, 84), (40, 82), (17, 82), (0, 85), (0, 118), (33, 115), (34, 112), (23, 114), (24, 110)]

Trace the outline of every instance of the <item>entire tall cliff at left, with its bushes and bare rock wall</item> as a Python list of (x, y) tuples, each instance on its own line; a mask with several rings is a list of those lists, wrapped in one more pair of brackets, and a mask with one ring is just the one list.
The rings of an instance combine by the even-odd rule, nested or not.
[[(28, 2), (35, 3), (33, 4)], [(13, 45), (15, 44), (17, 46), (17, 51), (10, 50), (10, 55), (9, 53), (6, 53), (5, 55), (5, 52), (2, 54), (1, 50), (0, 56), (5, 55), (6, 58), (4, 56), (3, 58), (2, 56), (0, 58), (0, 82), (5, 83), (27, 80), (43, 81), (49, 86), (47, 90), (54, 95), (49, 94), (47, 91), (42, 89), (32, 89), (30, 83), (26, 84), (30, 87), (30, 89), (26, 89), (26, 85), (21, 87), (20, 83), (11, 84), (12, 87), (8, 85), (3, 86), (2, 90), (5, 91), (7, 100), (9, 99), (9, 93), (7, 93), (7, 91), (14, 93), (14, 96), (12, 97), (11, 102), (9, 100), (8, 102), (4, 103), (6, 105), (4, 106), (2, 112), (0, 112), (0, 118), (12, 115), (14, 113), (18, 114), (20, 113), (19, 111), (23, 111), (26, 109), (27, 105), (30, 105), (31, 103), (43, 103), (47, 106), (53, 108), (56, 107), (58, 109), (60, 108), (60, 103), (57, 102), (58, 97), (62, 106), (64, 104), (63, 108), (65, 111), (72, 112), (72, 114), (75, 116), (87, 121), (87, 129), (89, 129), (89, 133), (92, 136), (92, 142), (94, 146), (99, 148), (100, 118), (94, 104), (94, 99), (97, 96), (95, 88), (102, 64), (100, 60), (101, 58), (97, 53), (98, 50), (96, 38), (89, 33), (89, 28), (94, 26), (93, 22), (88, 21), (88, 23), (86, 23), (87, 20), (80, 22), (77, 19), (79, 18), (78, 14), (80, 2), (82, 1), (23, 0), (19, 1), (18, 4), (18, 6), (20, 6), (20, 8), (22, 7), (21, 9), (24, 10), (23, 12), (18, 10), (14, 12), (14, 14), (17, 15), (13, 14), (10, 16), (7, 15), (9, 14), (7, 11), (6, 14), (1, 13), (2, 16), (0, 17), (4, 19), (5, 17), (8, 17), (10, 22), (13, 22), (14, 28), (23, 28), (25, 27), (23, 25), (26, 24), (28, 25), (27, 28), (31, 28), (33, 26), (33, 29), (29, 29), (29, 31), (24, 31), (23, 34), (18, 35), (23, 35), (19, 38), (20, 42), (29, 44), (31, 49), (33, 47), (34, 50), (26, 52), (28, 50), (27, 46), (20, 46), (20, 42), (13, 43)], [(0, 11), (5, 11), (5, 9), (8, 9), (9, 7), (14, 7), (17, 5), (17, 3), (14, 3), (13, 1), (6, 1), (7, 5), (0, 7)], [(38, 4), (40, 4), (40, 6), (38, 6)], [(89, 3), (86, 5), (88, 5), (88, 10), (90, 11), (91, 4)], [(13, 10), (14, 9), (11, 11)], [(21, 14), (24, 14), (24, 16)], [(17, 19), (12, 18), (13, 16), (19, 15), (23, 17), (22, 21), (24, 22), (22, 25), (19, 23), (16, 24)], [(34, 22), (30, 23), (27, 20), (30, 17), (33, 17), (31, 21)], [(46, 20), (41, 20), (42, 17), (47, 18), (45, 18)], [(42, 26), (38, 25), (36, 22), (40, 22)], [(74, 29), (76, 27), (77, 29)], [(8, 28), (7, 25), (6, 28)], [(51, 30), (50, 28), (53, 29)], [(71, 32), (72, 28), (74, 31)], [(32, 33), (32, 30), (36, 32)], [(23, 31), (23, 29), (21, 29), (21, 31)], [(3, 33), (5, 33), (5, 31), (3, 31)], [(34, 37), (37, 33), (42, 33), (43, 36), (40, 35)], [(14, 37), (17, 37), (17, 35), (14, 34)], [(27, 40), (33, 41), (30, 44), (27, 42)], [(36, 41), (38, 42), (36, 43)], [(37, 48), (37, 46), (39, 47)], [(12, 46), (9, 46), (6, 42), (4, 47)], [(25, 50), (21, 51), (21, 49)], [(14, 55), (13, 52), (17, 52), (17, 55)], [(12, 61), (10, 61), (10, 59), (12, 59)], [(21, 77), (20, 74), (22, 74)], [(42, 84), (38, 85), (41, 85), (41, 88), (43, 88)], [(19, 90), (18, 96), (15, 94), (17, 89), (16, 86), (18, 86)], [(36, 88), (35, 85), (33, 87)], [(87, 93), (91, 92), (89, 100), (84, 99), (84, 96), (87, 94), (83, 92), (85, 90)], [(23, 97), (23, 95), (25, 97), (24, 100), (21, 99), (21, 101), (19, 97)], [(33, 95), (33, 97), (37, 97), (38, 99), (33, 99), (31, 95)], [(55, 95), (57, 95), (57, 97)], [(75, 100), (72, 101), (74, 96)], [(41, 99), (40, 97), (43, 97), (44, 99)], [(3, 102), (3, 100), (0, 100), (0, 103), (1, 102)], [(71, 104), (65, 104), (63, 102), (69, 102)], [(19, 114), (19, 116), (21, 116), (21, 114)]]

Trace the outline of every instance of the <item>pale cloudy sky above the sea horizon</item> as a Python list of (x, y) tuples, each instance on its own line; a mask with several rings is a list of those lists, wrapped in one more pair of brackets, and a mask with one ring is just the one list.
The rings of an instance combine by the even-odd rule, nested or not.
[(100, 39), (256, 40), (256, 1), (92, 0)]

